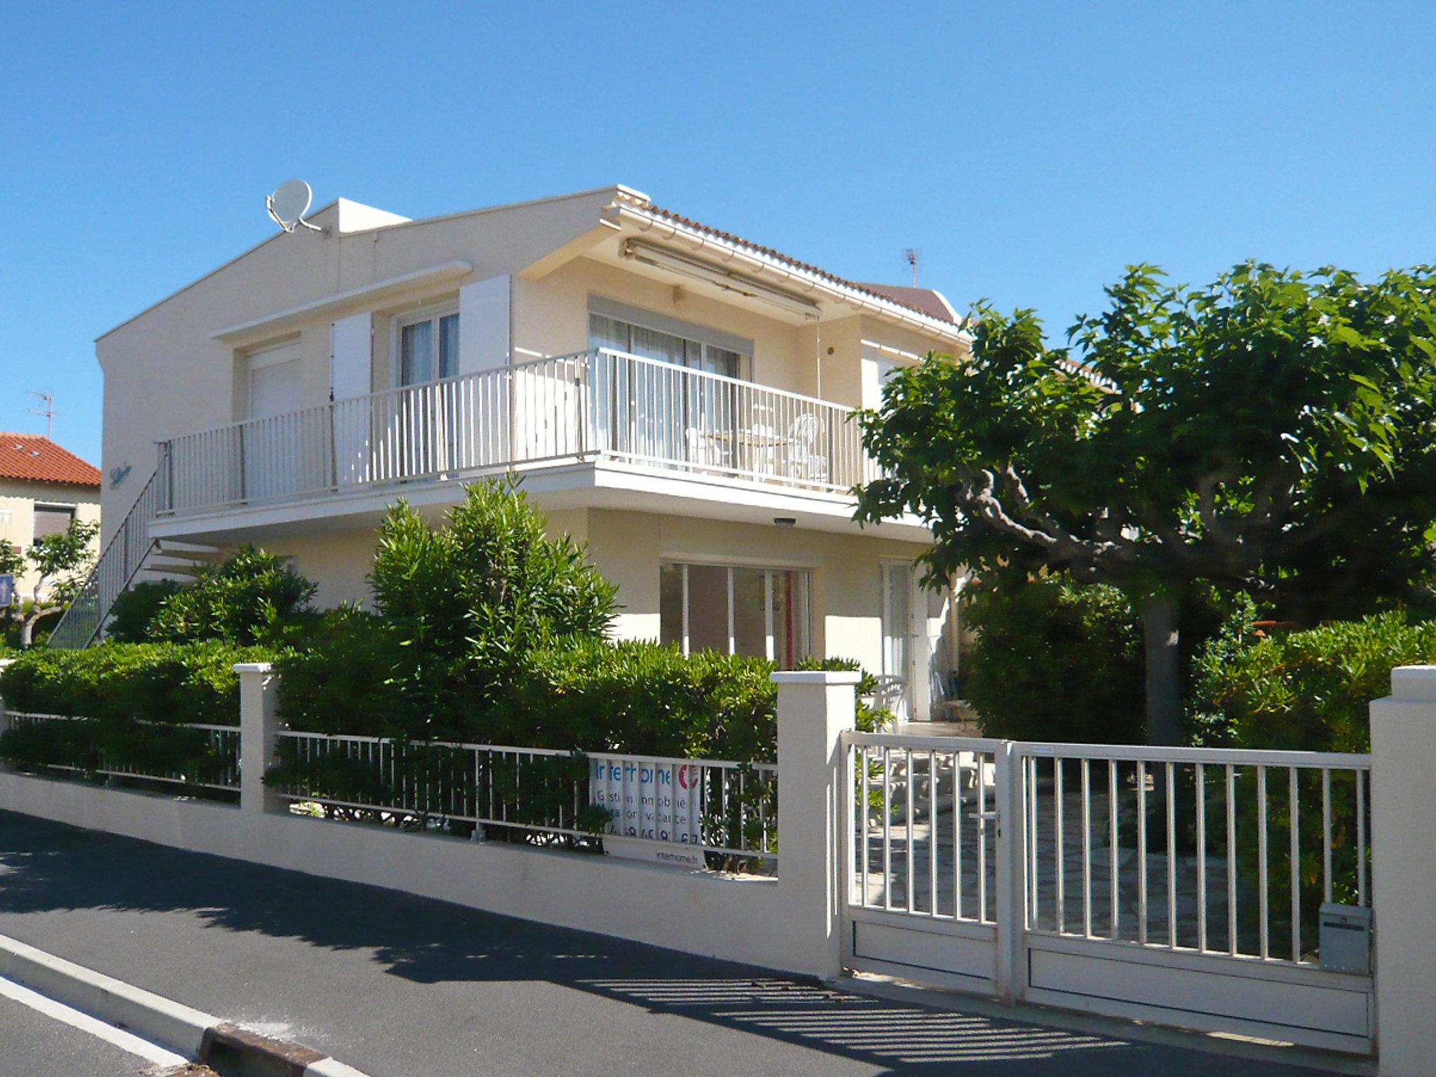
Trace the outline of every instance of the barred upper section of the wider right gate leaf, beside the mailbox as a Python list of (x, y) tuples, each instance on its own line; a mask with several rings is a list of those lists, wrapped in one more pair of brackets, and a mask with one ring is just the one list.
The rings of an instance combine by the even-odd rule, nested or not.
[(1370, 906), (1370, 757), (1015, 745), (1030, 931), (1314, 964)]

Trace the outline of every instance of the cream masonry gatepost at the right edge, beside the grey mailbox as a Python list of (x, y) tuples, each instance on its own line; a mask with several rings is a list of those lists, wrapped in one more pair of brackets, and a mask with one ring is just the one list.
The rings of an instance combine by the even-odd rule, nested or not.
[(1391, 671), (1371, 704), (1371, 906), (1383, 1077), (1436, 1067), (1436, 666)]

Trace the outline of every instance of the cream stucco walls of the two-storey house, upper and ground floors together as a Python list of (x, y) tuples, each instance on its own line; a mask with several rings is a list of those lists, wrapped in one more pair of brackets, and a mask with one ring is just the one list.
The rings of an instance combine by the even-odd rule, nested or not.
[[(464, 312), (464, 369), (587, 348), (589, 297), (602, 296), (750, 339), (752, 381), (850, 406), (873, 402), (864, 395), (863, 362), (875, 346), (885, 346), (889, 360), (899, 353), (951, 350), (939, 335), (929, 339), (840, 303), (830, 303), (816, 322), (803, 322), (760, 300), (705, 293), (704, 284), (675, 286), (673, 279), (619, 257), (620, 233), (605, 223), (605, 207), (616, 192), (600, 188), (406, 223), (340, 200), (314, 215), (329, 236), (274, 236), (102, 336), (96, 352), (105, 373), (103, 468), (134, 467), (125, 485), (105, 490), (106, 538), (154, 470), (157, 441), (247, 418), (248, 355), (254, 349), (297, 340), (300, 386), (294, 405), (327, 401), (330, 327), (339, 320), (346, 320), (346, 332), (358, 327), (358, 337), (346, 337), (350, 342), (362, 340), (365, 325), (370, 330), (368, 381), (373, 392), (395, 383), (395, 319), (438, 304)], [(429, 284), (393, 286), (382, 299), (330, 302), (353, 289), (452, 263), (472, 269)], [(322, 312), (294, 316), (283, 329), (214, 336), (325, 302), (329, 304)], [(485, 355), (475, 353), (480, 345)], [(503, 353), (488, 356), (487, 350)], [(359, 382), (362, 369), (360, 360)], [(846, 533), (780, 531), (767, 524), (597, 508), (556, 513), (553, 526), (589, 541), (595, 561), (619, 584), (623, 609), (616, 628), (622, 636), (658, 635), (659, 563), (665, 559), (791, 564), (814, 573), (816, 649), (856, 658), (872, 669), (882, 658), (877, 566), (889, 557), (910, 560), (922, 549), (856, 526)], [(363, 526), (314, 521), (307, 527), (300, 518), (281, 531), (250, 537), (273, 553), (294, 557), (299, 570), (320, 584), (322, 605), (368, 599), (372, 520)]]

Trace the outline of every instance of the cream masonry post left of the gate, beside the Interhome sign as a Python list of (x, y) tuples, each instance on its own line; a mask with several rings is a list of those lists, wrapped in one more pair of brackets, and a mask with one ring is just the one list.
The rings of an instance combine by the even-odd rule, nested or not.
[(843, 971), (840, 885), (849, 817), (843, 732), (853, 728), (859, 675), (773, 673), (778, 686), (778, 892), (785, 931), (808, 955), (803, 971)]

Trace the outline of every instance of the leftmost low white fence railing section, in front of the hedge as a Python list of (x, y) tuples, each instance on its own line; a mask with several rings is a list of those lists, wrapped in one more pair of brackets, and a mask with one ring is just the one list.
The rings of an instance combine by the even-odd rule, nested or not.
[[(240, 791), (240, 728), (145, 719), (101, 722), (9, 712), (6, 758), (23, 768)], [(175, 765), (175, 761), (180, 761)]]

